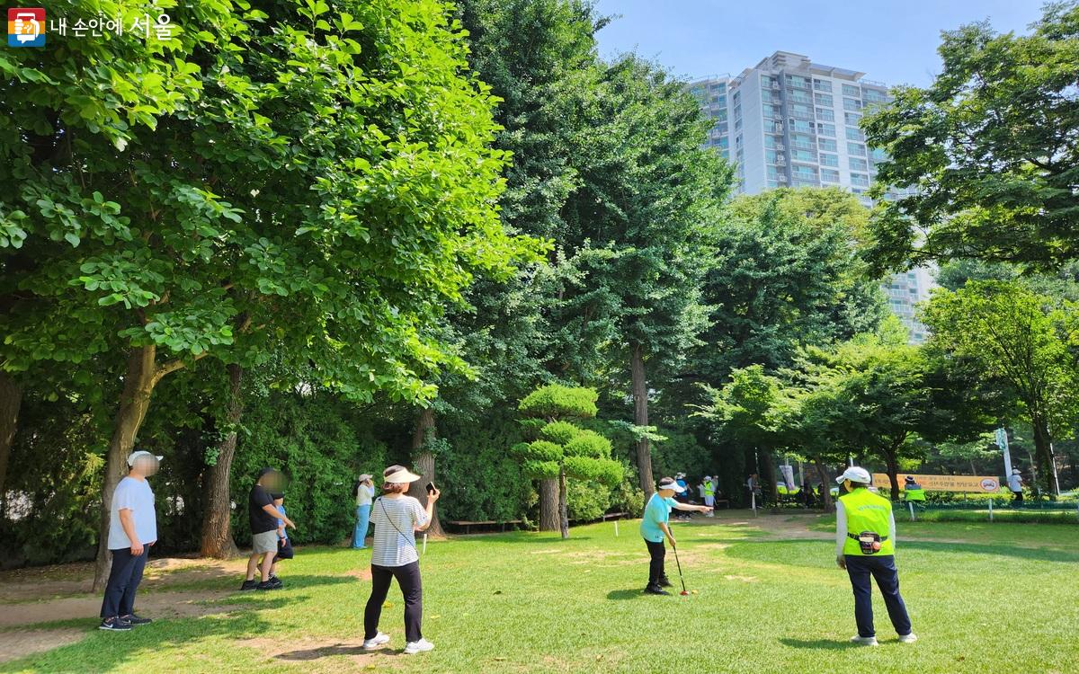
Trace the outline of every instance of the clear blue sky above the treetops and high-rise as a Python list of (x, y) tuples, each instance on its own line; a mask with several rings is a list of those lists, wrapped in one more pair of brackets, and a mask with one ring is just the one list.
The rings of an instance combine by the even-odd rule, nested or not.
[[(1041, 0), (599, 0), (620, 14), (599, 33), (600, 53), (636, 51), (675, 74), (743, 68), (777, 50), (865, 72), (888, 84), (929, 84), (940, 71), (940, 31), (988, 18), (1027, 32)], [(728, 30), (737, 26), (737, 30)]]

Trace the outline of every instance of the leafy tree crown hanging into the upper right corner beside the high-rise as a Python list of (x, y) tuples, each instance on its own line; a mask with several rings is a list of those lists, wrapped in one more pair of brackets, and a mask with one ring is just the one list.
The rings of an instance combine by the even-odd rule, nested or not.
[(1047, 4), (1033, 32), (987, 22), (943, 33), (942, 71), (863, 120), (885, 150), (872, 258), (980, 258), (1057, 266), (1079, 256), (1079, 4)]

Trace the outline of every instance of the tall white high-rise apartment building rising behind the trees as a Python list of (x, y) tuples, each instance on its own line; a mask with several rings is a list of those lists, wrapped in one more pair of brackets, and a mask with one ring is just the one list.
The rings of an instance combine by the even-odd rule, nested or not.
[[(739, 192), (837, 187), (870, 206), (865, 192), (885, 155), (866, 148), (858, 124), (865, 108), (889, 96), (887, 85), (864, 74), (776, 52), (738, 77), (707, 78), (689, 88), (714, 122), (706, 145), (735, 163)], [(929, 297), (931, 284), (926, 270), (885, 284), (889, 307), (912, 342), (926, 338), (914, 304)]]

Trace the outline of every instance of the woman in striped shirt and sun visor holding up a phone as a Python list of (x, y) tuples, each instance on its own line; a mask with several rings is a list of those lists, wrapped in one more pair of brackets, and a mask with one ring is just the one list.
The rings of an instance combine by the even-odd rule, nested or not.
[(374, 540), (371, 545), (371, 596), (364, 610), (364, 648), (374, 649), (390, 642), (379, 632), (382, 604), (394, 578), (405, 597), (405, 652), (414, 655), (434, 650), (435, 645), (423, 638), (423, 587), (420, 581), (420, 552), (415, 549), (415, 532), (426, 531), (435, 517), (439, 491), (427, 493), (427, 506), (406, 496), (408, 485), (420, 479), (404, 466), (391, 466), (383, 471), (382, 496), (371, 507)]

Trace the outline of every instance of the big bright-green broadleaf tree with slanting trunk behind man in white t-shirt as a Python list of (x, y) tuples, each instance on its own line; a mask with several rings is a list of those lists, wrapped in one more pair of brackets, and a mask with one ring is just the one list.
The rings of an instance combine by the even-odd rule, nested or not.
[[(87, 350), (126, 358), (103, 533), (169, 373), (205, 355), (235, 360), (272, 335), (346, 396), (428, 397), (423, 373), (456, 359), (425, 326), (472, 270), (529, 255), (498, 222), (492, 101), (462, 74), (445, 5), (245, 9), (177, 6), (177, 25), (202, 30), (150, 49), (129, 37), (85, 41), (93, 53), (33, 51), (18, 72), (36, 93), (5, 97), (6, 240), (37, 253), (15, 279), (35, 302), (3, 317), (5, 369)], [(178, 83), (155, 108), (94, 85), (149, 70), (136, 56), (168, 64), (146, 86)], [(71, 356), (76, 321), (100, 329)], [(99, 576), (106, 560), (103, 535)]]

